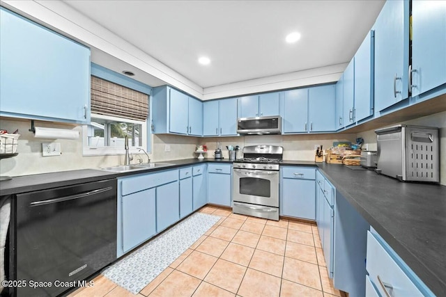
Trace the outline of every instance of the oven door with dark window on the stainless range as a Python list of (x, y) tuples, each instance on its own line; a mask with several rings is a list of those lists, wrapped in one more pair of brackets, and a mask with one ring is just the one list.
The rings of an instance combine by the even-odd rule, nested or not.
[(279, 207), (279, 171), (234, 169), (233, 201)]

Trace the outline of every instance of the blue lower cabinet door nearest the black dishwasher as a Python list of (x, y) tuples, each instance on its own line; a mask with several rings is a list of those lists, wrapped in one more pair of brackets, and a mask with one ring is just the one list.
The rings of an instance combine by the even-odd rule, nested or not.
[(156, 233), (155, 188), (122, 198), (123, 252), (146, 241)]

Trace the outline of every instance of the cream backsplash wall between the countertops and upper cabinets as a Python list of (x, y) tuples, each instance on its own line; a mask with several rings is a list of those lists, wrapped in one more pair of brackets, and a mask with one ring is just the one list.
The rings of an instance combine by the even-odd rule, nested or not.
[[(410, 120), (403, 122), (403, 124), (440, 127), (440, 152), (446, 152), (446, 112)], [(80, 131), (82, 135), (82, 127), (80, 126), (63, 125), (53, 122), (39, 122), (38, 125), (41, 127), (75, 129)], [(18, 156), (1, 159), (1, 175), (33, 175), (45, 172), (116, 166), (122, 165), (124, 162), (123, 154), (118, 156), (83, 156), (82, 136), (75, 141), (57, 139), (56, 141), (61, 143), (61, 156), (42, 156), (42, 143), (52, 142), (52, 140), (34, 138), (33, 134), (28, 131), (31, 127), (29, 120), (2, 118), (0, 120), (0, 127), (8, 131), (19, 129), (19, 133), (21, 134), (17, 148)], [(313, 161), (314, 145), (323, 145), (323, 148), (327, 149), (334, 141), (355, 142), (355, 138), (357, 137), (364, 138), (363, 147), (368, 147), (369, 150), (376, 150), (376, 134), (374, 130), (359, 134), (268, 135), (221, 138), (198, 138), (159, 134), (152, 135), (152, 152), (149, 156), (151, 161), (196, 158), (197, 154), (194, 153), (196, 146), (207, 145), (208, 153), (205, 156), (213, 158), (217, 142), (220, 142), (225, 159), (229, 158), (226, 145), (238, 145), (240, 149), (246, 145), (281, 145), (284, 147), (284, 159)], [(167, 149), (170, 149), (170, 152), (166, 152)], [(237, 157), (242, 157), (241, 151), (238, 152)], [(138, 158), (143, 159), (144, 162), (146, 161), (145, 154), (141, 154), (135, 155), (132, 163), (137, 163)], [(441, 154), (440, 182), (446, 185), (446, 158)]]

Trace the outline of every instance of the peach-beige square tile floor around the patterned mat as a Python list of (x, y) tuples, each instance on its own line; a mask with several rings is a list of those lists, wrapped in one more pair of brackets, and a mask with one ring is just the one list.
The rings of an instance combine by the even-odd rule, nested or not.
[(100, 275), (70, 297), (342, 296), (328, 278), (316, 225), (200, 211), (222, 218), (139, 294)]

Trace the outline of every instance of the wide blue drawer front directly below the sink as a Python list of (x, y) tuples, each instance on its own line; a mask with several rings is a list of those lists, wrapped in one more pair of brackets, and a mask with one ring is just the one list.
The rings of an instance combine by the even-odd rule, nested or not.
[(178, 180), (178, 169), (158, 173), (149, 173), (137, 177), (128, 177), (121, 180), (121, 195), (128, 195), (139, 191), (160, 186)]

